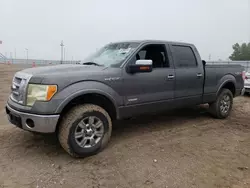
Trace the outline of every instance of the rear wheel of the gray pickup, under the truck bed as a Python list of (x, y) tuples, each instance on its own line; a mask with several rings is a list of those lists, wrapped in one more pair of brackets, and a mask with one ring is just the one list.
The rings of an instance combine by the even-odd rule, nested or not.
[[(228, 100), (225, 100), (228, 99)], [(226, 107), (227, 106), (227, 107)], [(222, 89), (214, 103), (210, 104), (209, 111), (218, 119), (227, 118), (233, 107), (233, 94), (229, 89)]]

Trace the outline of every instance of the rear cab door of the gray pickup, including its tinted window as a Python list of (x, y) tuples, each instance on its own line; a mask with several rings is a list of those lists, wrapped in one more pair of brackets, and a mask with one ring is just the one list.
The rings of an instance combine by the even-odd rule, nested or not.
[(200, 104), (203, 94), (203, 65), (195, 56), (195, 49), (188, 45), (170, 45), (175, 65), (176, 103), (184, 105)]

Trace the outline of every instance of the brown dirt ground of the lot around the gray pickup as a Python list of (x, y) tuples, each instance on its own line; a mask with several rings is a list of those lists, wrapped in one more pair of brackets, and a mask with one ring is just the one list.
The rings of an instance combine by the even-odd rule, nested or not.
[(197, 108), (116, 122), (103, 152), (74, 159), (54, 135), (7, 122), (4, 103), (20, 69), (0, 65), (0, 188), (250, 187), (249, 97), (235, 99), (226, 120)]

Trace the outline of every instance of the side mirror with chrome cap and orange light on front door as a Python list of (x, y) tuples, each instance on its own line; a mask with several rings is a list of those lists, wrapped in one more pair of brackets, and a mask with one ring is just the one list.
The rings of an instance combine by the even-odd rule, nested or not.
[(152, 72), (152, 64), (153, 61), (149, 59), (137, 60), (135, 64), (129, 65), (128, 72), (132, 74), (140, 72)]

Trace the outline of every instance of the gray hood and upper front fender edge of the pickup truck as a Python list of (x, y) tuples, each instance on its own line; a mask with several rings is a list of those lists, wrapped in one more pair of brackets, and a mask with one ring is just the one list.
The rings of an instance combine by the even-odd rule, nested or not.
[(21, 72), (32, 75), (30, 83), (56, 84), (59, 90), (77, 82), (105, 82), (105, 79), (110, 77), (121, 77), (120, 68), (81, 64), (36, 67), (25, 69)]

